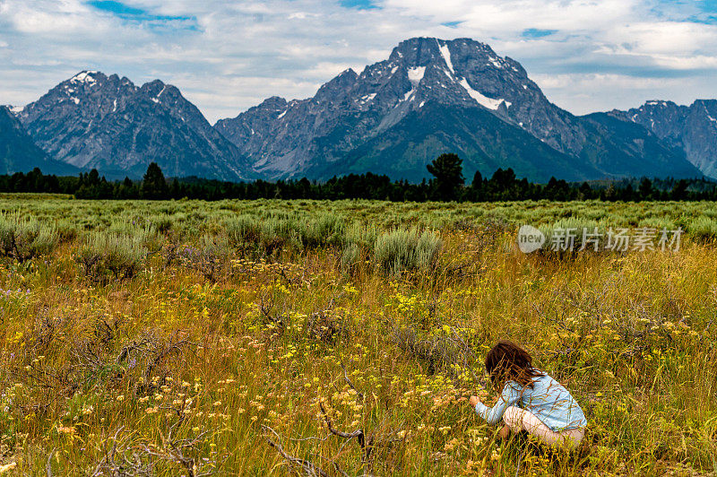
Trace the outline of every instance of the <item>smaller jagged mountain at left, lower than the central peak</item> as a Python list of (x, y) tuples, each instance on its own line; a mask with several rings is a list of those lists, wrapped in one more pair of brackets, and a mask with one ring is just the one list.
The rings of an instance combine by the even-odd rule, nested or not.
[(135, 86), (117, 74), (82, 72), (18, 114), (56, 160), (109, 176), (141, 176), (151, 161), (169, 176), (252, 178), (236, 146), (174, 86)]

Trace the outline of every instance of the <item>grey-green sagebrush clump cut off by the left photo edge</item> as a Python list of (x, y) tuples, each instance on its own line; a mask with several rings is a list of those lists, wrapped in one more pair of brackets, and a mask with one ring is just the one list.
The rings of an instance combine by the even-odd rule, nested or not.
[(19, 262), (35, 256), (49, 255), (59, 243), (56, 228), (35, 218), (0, 215), (0, 256), (11, 256)]

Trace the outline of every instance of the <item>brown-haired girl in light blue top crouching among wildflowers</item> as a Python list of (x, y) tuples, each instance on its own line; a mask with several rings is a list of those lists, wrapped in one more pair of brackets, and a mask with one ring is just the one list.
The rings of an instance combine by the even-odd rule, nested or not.
[(493, 385), (503, 392), (495, 406), (486, 407), (471, 396), (471, 407), (488, 421), (510, 431), (527, 430), (549, 446), (576, 447), (585, 435), (587, 421), (580, 406), (555, 379), (532, 367), (531, 355), (517, 344), (501, 340), (486, 356), (486, 369)]

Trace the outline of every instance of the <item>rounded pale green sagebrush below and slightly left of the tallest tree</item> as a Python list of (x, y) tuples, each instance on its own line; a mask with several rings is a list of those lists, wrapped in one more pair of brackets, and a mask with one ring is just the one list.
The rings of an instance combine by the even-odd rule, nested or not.
[(433, 232), (393, 230), (376, 240), (376, 266), (387, 274), (428, 271), (436, 265), (443, 241)]

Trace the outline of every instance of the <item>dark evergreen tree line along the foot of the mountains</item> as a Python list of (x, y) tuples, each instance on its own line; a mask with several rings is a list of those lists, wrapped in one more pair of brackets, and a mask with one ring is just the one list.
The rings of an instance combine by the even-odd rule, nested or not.
[(44, 175), (40, 169), (0, 176), (0, 192), (73, 195), (78, 199), (376, 199), (393, 202), (540, 200), (651, 201), (717, 200), (717, 184), (704, 178), (626, 178), (618, 181), (569, 183), (550, 178), (547, 184), (517, 178), (513, 169), (497, 169), (490, 178), (476, 172), (470, 184), (462, 175), (462, 160), (442, 154), (427, 166), (433, 178), (419, 184), (392, 181), (371, 172), (333, 177), (325, 182), (278, 180), (226, 182), (203, 178), (164, 177), (152, 162), (142, 180), (107, 180), (96, 169), (78, 177)]

